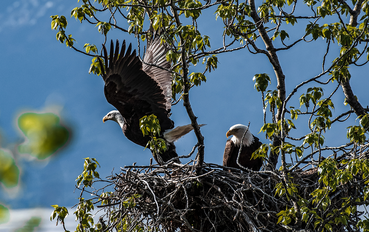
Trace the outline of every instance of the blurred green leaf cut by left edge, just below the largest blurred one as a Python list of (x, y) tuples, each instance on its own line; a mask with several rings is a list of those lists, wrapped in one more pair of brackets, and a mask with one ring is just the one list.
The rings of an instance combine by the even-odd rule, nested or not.
[(10, 188), (17, 186), (18, 179), (19, 169), (15, 165), (13, 157), (10, 153), (0, 149), (0, 182), (3, 183), (5, 187)]

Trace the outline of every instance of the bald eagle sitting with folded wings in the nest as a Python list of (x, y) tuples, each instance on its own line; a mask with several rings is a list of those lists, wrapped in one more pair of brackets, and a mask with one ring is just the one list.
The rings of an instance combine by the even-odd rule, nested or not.
[[(241, 169), (241, 167), (237, 164), (237, 156), (239, 148), (241, 147), (242, 136), (247, 128), (248, 127), (245, 125), (236, 124), (232, 126), (229, 131), (227, 131), (227, 138), (231, 135), (233, 136), (227, 140), (227, 143), (225, 143), (223, 166)], [(262, 143), (259, 141), (259, 139), (252, 135), (250, 131), (247, 131), (242, 143), (242, 150), (241, 154), (239, 155), (238, 162), (248, 169), (259, 171), (263, 161), (261, 158), (251, 159), (251, 155), (261, 145)]]

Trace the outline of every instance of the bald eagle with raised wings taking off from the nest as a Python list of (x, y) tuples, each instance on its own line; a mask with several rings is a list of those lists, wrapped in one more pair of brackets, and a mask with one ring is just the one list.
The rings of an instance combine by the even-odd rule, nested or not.
[(166, 60), (168, 50), (161, 45), (159, 37), (152, 39), (148, 45), (144, 63), (136, 55), (136, 50), (131, 53), (131, 44), (125, 52), (125, 40), (120, 52), (119, 41), (117, 40), (115, 51), (113, 40), (111, 41), (109, 58), (104, 45), (103, 49), (105, 69), (100, 59), (99, 63), (105, 82), (104, 93), (108, 103), (117, 109), (109, 112), (103, 122), (117, 122), (130, 141), (145, 147), (151, 138), (142, 134), (139, 120), (145, 115), (154, 114), (161, 127), (159, 138), (164, 139), (168, 146), (165, 152), (159, 154), (160, 158), (153, 154), (156, 162), (162, 165), (163, 162), (178, 157), (173, 142), (192, 131), (193, 127), (186, 125), (173, 129), (174, 122), (169, 118), (172, 76), (166, 70), (145, 64), (154, 63), (166, 69), (170, 68), (170, 63)]

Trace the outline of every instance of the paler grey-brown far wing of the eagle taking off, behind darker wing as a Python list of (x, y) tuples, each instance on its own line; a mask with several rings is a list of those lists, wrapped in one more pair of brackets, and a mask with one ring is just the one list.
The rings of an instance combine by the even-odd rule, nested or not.
[[(146, 49), (144, 62), (169, 69), (170, 63), (166, 60), (166, 53), (168, 51), (169, 49), (161, 44), (160, 37), (156, 36), (152, 38)], [(166, 99), (166, 109), (169, 110), (172, 101), (172, 75), (170, 72), (155, 66), (146, 65), (145, 63), (142, 64), (142, 70), (160, 84)]]

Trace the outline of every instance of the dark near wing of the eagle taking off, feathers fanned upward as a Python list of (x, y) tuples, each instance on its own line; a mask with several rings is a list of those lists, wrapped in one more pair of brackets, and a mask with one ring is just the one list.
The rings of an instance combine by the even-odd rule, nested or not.
[(142, 63), (136, 55), (131, 53), (130, 44), (125, 51), (125, 41), (119, 53), (119, 41), (115, 46), (111, 41), (110, 57), (105, 46), (104, 66), (99, 59), (101, 76), (105, 82), (104, 93), (108, 103), (112, 104), (123, 116), (128, 125), (138, 124), (138, 120), (145, 115), (154, 114), (158, 117), (161, 128), (171, 129), (174, 123), (169, 119), (166, 98), (159, 83), (142, 70)]

